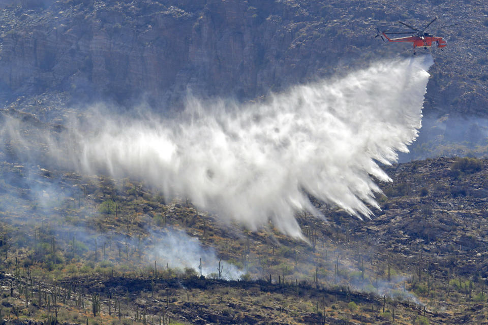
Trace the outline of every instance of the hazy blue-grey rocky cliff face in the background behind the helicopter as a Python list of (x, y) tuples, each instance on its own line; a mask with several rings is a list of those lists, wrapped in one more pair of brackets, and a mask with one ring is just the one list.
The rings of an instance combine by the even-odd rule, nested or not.
[(399, 19), (422, 25), (439, 16), (438, 26), (461, 25), (438, 31), (448, 47), (433, 50), (426, 112), (487, 115), (488, 6), (481, 1), (432, 1), (419, 9), (370, 0), (8, 3), (0, 13), (0, 89), (7, 105), (35, 106), (40, 96), (59, 103), (143, 98), (165, 110), (188, 92), (253, 99), (411, 55), (409, 45), (373, 40), (375, 27)]

